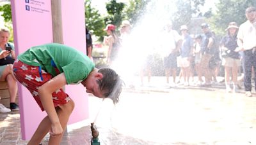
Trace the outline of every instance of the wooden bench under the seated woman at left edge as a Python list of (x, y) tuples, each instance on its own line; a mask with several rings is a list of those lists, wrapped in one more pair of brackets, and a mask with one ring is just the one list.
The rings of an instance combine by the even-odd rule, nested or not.
[[(10, 108), (10, 94), (8, 92), (8, 85), (6, 81), (0, 81), (0, 103), (5, 107)], [(16, 97), (15, 102), (18, 104), (18, 97)]]

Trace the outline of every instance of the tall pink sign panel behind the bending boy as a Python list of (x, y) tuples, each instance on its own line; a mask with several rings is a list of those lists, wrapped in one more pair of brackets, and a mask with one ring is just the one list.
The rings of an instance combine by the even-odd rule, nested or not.
[[(84, 1), (61, 1), (63, 41), (85, 53)], [(52, 42), (51, 0), (11, 0), (13, 32), (17, 55), (29, 47)], [(68, 123), (88, 118), (88, 95), (82, 85), (69, 85), (67, 93), (76, 108)], [(19, 85), (20, 123), (22, 139), (29, 140), (46, 115), (40, 111), (32, 95)]]

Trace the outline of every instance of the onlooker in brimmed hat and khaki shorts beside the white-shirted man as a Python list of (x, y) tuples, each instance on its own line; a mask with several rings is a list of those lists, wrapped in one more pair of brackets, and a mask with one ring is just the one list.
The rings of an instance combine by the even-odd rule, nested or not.
[[(240, 55), (235, 52), (237, 48), (237, 31), (236, 22), (230, 22), (226, 29), (227, 35), (223, 36), (221, 39), (221, 51), (222, 53), (222, 65), (225, 67), (225, 85), (227, 92), (236, 92), (237, 88), (241, 88), (237, 81), (237, 72), (241, 66)], [(230, 73), (231, 72), (231, 73)], [(232, 74), (232, 84), (230, 82), (230, 74)], [(232, 85), (232, 89), (230, 88)]]

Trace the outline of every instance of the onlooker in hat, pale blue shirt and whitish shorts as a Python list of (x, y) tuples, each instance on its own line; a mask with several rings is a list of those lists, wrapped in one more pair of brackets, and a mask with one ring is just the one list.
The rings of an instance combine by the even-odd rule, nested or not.
[(186, 25), (180, 26), (182, 45), (180, 49), (180, 64), (182, 76), (184, 78), (184, 86), (189, 86), (189, 76), (191, 65), (190, 60), (192, 59), (193, 52), (193, 39), (188, 34), (188, 27)]

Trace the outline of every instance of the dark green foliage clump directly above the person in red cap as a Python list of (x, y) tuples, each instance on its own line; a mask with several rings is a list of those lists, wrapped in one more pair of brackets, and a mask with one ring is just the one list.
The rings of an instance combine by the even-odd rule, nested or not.
[(116, 0), (111, 0), (106, 4), (106, 10), (108, 11), (108, 16), (104, 19), (106, 24), (120, 25), (124, 19), (123, 10), (124, 3), (116, 3)]

